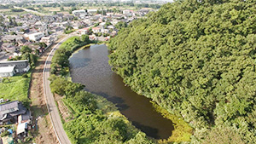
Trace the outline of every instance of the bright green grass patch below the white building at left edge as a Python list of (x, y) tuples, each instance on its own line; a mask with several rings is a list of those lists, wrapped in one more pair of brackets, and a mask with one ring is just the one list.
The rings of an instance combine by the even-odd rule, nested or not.
[(0, 83), (0, 98), (9, 99), (9, 101), (22, 101), (25, 105), (28, 104), (28, 88), (31, 78), (31, 72), (27, 73), (28, 78), (22, 76), (14, 76)]

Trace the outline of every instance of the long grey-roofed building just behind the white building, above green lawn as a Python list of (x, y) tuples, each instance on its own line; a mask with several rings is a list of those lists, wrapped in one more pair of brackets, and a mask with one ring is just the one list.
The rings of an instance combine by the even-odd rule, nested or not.
[(15, 66), (15, 73), (28, 72), (30, 69), (28, 60), (0, 61), (0, 67)]

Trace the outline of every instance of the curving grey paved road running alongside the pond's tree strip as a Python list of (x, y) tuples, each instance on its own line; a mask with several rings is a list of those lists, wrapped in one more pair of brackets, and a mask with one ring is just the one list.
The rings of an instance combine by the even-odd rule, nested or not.
[(55, 47), (50, 51), (45, 63), (44, 63), (44, 71), (43, 71), (43, 81), (44, 81), (44, 96), (45, 101), (47, 104), (47, 109), (49, 112), (49, 118), (53, 125), (53, 128), (55, 130), (55, 135), (58, 139), (58, 141), (61, 144), (71, 144), (69, 141), (67, 134), (65, 130), (63, 129), (62, 123), (61, 123), (61, 117), (58, 111), (58, 107), (56, 107), (55, 99), (52, 93), (50, 92), (49, 88), (49, 72), (50, 72), (50, 61), (52, 59), (52, 56), (55, 54), (55, 49), (58, 49), (63, 41), (65, 41), (68, 37), (71, 37), (72, 35), (69, 35), (67, 37), (64, 37), (60, 43), (57, 43)]

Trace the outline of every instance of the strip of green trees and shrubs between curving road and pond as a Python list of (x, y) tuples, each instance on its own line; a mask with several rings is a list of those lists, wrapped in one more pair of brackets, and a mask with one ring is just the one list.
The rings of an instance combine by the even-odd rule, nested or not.
[(154, 143), (137, 130), (113, 103), (99, 95), (84, 91), (84, 85), (73, 83), (67, 77), (72, 53), (90, 41), (88, 35), (70, 37), (61, 43), (51, 64), (50, 89), (61, 95), (69, 110), (69, 117), (62, 118), (64, 130), (73, 144), (85, 143)]

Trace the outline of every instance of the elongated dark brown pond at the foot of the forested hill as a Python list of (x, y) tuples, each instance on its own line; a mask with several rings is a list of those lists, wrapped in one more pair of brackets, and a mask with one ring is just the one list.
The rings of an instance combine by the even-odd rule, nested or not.
[(139, 130), (156, 139), (172, 135), (172, 121), (155, 112), (148, 98), (131, 91), (111, 71), (106, 45), (81, 49), (69, 61), (73, 82), (84, 84), (87, 91), (112, 101)]

